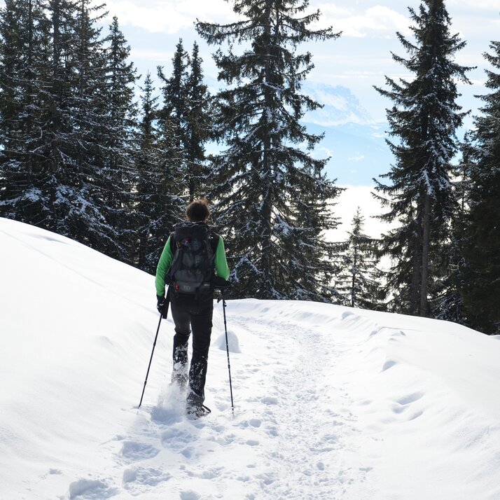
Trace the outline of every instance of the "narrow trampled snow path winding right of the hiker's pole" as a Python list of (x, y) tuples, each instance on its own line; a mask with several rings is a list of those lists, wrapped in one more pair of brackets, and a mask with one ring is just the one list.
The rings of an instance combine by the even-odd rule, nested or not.
[[(244, 327), (251, 317), (237, 322)], [(254, 324), (249, 331), (272, 342), (263, 384), (271, 396), (263, 401), (271, 403), (265, 418), (277, 422), (278, 430), (274, 446), (264, 447), (264, 454), (284, 469), (272, 468), (273, 481), (263, 492), (268, 498), (340, 498), (344, 485), (363, 480), (364, 473), (345, 463), (346, 442), (356, 430), (347, 410), (351, 401), (335, 387), (335, 359), (341, 353), (334, 333), (286, 321)], [(269, 337), (269, 331), (275, 335)]]

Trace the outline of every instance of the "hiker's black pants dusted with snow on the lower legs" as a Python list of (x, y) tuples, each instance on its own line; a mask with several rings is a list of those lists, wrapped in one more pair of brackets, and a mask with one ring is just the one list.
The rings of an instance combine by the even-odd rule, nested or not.
[[(214, 314), (214, 295), (199, 298), (171, 291), (170, 310), (175, 324), (172, 381), (184, 386), (189, 382), (188, 405), (201, 406), (207, 378), (208, 352)], [(193, 356), (188, 375), (188, 342), (193, 331)]]

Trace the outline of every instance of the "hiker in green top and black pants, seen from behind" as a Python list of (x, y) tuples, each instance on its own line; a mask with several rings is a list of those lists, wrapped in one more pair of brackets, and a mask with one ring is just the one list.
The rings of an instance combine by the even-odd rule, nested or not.
[[(170, 233), (156, 268), (158, 311), (166, 317), (168, 303), (175, 324), (172, 382), (188, 384), (188, 415), (204, 415), (204, 385), (210, 347), (214, 286), (229, 283), (224, 242), (207, 225), (206, 198), (186, 207), (187, 221)], [(165, 298), (165, 284), (169, 285)], [(214, 285), (216, 284), (216, 285)], [(193, 356), (188, 372), (188, 341), (193, 330)], [(208, 409), (207, 409), (208, 410)]]

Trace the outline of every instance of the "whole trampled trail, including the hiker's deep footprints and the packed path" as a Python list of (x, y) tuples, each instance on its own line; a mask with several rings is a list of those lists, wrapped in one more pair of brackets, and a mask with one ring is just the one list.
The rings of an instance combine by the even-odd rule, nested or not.
[[(235, 416), (225, 381), (210, 387), (209, 380), (214, 411), (197, 421), (186, 419), (181, 394), (168, 388), (107, 447), (116, 456), (114, 477), (76, 481), (69, 498), (360, 498), (370, 467), (358, 464), (353, 401), (335, 376), (336, 358), (352, 356), (352, 346), (341, 346), (331, 326), (319, 333), (303, 320), (237, 309), (230, 332), (261, 355), (231, 354)], [(212, 354), (211, 363), (225, 357), (222, 349)], [(194, 489), (186, 489), (190, 478)]]

